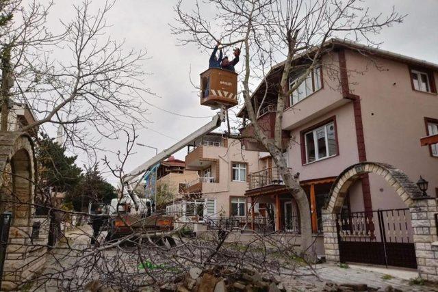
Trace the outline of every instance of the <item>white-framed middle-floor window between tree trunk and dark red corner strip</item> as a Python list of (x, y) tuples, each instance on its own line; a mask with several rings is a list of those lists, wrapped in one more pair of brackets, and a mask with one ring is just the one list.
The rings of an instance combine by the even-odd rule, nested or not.
[(304, 134), (305, 163), (337, 155), (335, 122), (329, 122)]

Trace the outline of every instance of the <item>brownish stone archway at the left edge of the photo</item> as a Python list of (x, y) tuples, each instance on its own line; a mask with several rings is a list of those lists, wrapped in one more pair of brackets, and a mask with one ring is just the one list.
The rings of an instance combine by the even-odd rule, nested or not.
[(6, 248), (2, 290), (16, 287), (31, 276), (29, 245), (34, 213), (36, 163), (31, 137), (21, 132), (0, 133), (1, 212), (12, 213)]

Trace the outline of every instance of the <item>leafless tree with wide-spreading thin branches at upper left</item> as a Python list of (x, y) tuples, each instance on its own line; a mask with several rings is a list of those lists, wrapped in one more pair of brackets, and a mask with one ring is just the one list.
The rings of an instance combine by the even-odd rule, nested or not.
[[(10, 15), (0, 27), (3, 111), (8, 100), (25, 103), (37, 121), (23, 131), (43, 124), (61, 125), (66, 143), (94, 157), (103, 138), (147, 122), (142, 60), (146, 51), (126, 48), (124, 40), (108, 35), (106, 17), (114, 1), (73, 4), (73, 20), (60, 23), (61, 34), (47, 28), (47, 6), (39, 1), (5, 1), (1, 12)], [(3, 83), (5, 83), (3, 85)], [(8, 114), (3, 114), (7, 124)]]

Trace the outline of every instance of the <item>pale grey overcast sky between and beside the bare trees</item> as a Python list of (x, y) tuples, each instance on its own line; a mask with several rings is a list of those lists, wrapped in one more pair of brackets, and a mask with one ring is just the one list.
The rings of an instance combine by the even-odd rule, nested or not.
[[(185, 0), (187, 3), (193, 1)], [(49, 25), (56, 29), (60, 19), (71, 19), (72, 4), (78, 2), (55, 0)], [(99, 2), (103, 0), (94, 0), (94, 4)], [(181, 47), (177, 38), (170, 34), (168, 24), (175, 23), (173, 7), (176, 2), (116, 0), (107, 18), (107, 21), (112, 23), (107, 33), (116, 40), (125, 39), (127, 47), (147, 49), (151, 59), (144, 61), (144, 70), (151, 75), (147, 77), (145, 84), (161, 96), (145, 96), (151, 104), (185, 116), (209, 117), (214, 111), (198, 104), (197, 92), (190, 84), (190, 68), (192, 80), (198, 81), (198, 74), (207, 66), (208, 53), (200, 52), (194, 46)], [(395, 5), (400, 14), (409, 14), (404, 23), (385, 29), (380, 36), (376, 36), (376, 40), (383, 42), (381, 49), (438, 63), (437, 0), (365, 0), (365, 3), (374, 12), (387, 12)], [(152, 123), (148, 125), (149, 129), (140, 131), (138, 142), (159, 150), (168, 148), (210, 120), (177, 116), (155, 107), (149, 107), (149, 113)], [(103, 142), (102, 146), (109, 150), (118, 150), (123, 148), (123, 143), (123, 140)], [(155, 154), (155, 150), (140, 146), (136, 148), (136, 152), (129, 160), (129, 169), (135, 168)], [(185, 150), (176, 156), (183, 159)], [(79, 160), (78, 164), (87, 163), (83, 155), (79, 155)], [(114, 182), (110, 176), (108, 179)]]

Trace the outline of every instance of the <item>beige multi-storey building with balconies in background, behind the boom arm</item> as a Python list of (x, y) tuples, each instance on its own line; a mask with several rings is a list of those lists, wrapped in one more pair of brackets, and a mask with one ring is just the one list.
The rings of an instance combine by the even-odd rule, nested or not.
[(259, 155), (221, 133), (204, 135), (188, 146), (185, 157), (185, 169), (199, 175), (188, 184), (188, 195), (206, 205), (209, 217), (246, 217), (248, 173), (259, 170)]

